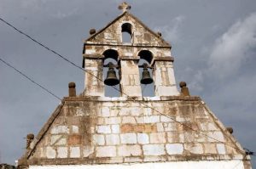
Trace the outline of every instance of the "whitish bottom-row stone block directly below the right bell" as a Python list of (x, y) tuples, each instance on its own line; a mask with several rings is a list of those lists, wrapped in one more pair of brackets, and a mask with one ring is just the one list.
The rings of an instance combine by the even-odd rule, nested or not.
[(165, 155), (164, 144), (147, 144), (143, 145), (143, 155)]

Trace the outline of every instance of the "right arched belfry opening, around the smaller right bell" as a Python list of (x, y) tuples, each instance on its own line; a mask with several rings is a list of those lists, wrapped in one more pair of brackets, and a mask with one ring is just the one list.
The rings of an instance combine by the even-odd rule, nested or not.
[[(149, 66), (153, 60), (153, 54), (148, 50), (140, 51), (138, 56), (140, 57), (138, 65), (147, 64)], [(140, 66), (139, 71), (140, 71), (140, 79), (142, 79), (143, 78), (143, 67)], [(148, 71), (149, 71), (149, 75), (151, 76), (151, 78), (153, 78), (152, 69), (148, 68)], [(154, 96), (154, 82), (152, 82), (150, 84), (142, 84), (141, 83), (141, 87), (142, 87), (142, 94), (144, 97)]]

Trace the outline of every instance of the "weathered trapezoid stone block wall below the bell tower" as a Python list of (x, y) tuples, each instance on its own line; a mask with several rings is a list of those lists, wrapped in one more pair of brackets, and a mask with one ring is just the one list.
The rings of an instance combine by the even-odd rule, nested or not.
[(231, 138), (196, 98), (137, 102), (69, 98), (29, 161), (87, 164), (242, 159)]

